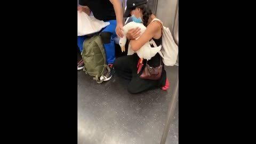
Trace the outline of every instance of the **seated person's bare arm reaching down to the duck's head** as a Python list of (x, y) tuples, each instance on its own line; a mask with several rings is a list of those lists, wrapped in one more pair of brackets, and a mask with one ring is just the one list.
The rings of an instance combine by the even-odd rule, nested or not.
[(116, 35), (118, 37), (123, 37), (123, 14), (122, 14), (122, 6), (119, 0), (109, 0), (115, 9), (115, 13), (116, 13), (116, 21), (117, 21), (117, 25), (116, 25)]

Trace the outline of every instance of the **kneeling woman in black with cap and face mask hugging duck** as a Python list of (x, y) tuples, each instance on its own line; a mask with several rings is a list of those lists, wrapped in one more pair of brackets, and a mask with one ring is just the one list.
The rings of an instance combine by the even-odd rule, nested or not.
[[(130, 17), (131, 15), (133, 21), (143, 22), (143, 25), (147, 27), (145, 32), (137, 40), (135, 40), (135, 38), (139, 36), (139, 29), (133, 29), (127, 33), (126, 37), (130, 39), (132, 50), (139, 50), (142, 45), (149, 41), (154, 41), (157, 46), (162, 45), (163, 26), (159, 21), (151, 22), (156, 18), (156, 16), (147, 8), (147, 0), (127, 0), (127, 8), (124, 13), (124, 17)], [(151, 47), (154, 46), (152, 45)], [(146, 63), (153, 68), (163, 65), (162, 58), (158, 53), (148, 61), (143, 59), (143, 66), (141, 70), (138, 71), (139, 62), (140, 58), (137, 53), (119, 57), (114, 62), (116, 74), (122, 78), (131, 80), (128, 86), (128, 91), (130, 93), (140, 93), (156, 87), (161, 87), (162, 90), (167, 90), (169, 88), (169, 81), (166, 77), (164, 67), (162, 67), (161, 77), (157, 80), (140, 78), (142, 71), (145, 69)]]

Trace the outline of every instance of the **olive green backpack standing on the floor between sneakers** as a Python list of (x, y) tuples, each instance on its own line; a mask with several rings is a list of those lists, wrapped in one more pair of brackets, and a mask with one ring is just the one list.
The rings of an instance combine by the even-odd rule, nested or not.
[(107, 68), (107, 61), (105, 49), (99, 35), (94, 35), (85, 39), (83, 43), (82, 58), (85, 65), (85, 74), (93, 76), (93, 79), (95, 79), (97, 83), (102, 83), (104, 79), (100, 80), (100, 77)]

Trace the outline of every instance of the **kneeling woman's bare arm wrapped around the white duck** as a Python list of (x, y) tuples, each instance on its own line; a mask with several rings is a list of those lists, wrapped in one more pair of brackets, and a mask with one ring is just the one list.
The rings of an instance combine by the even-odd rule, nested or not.
[(161, 27), (159, 27), (159, 24), (157, 22), (151, 22), (139, 39), (130, 40), (132, 50), (133, 51), (139, 50), (140, 47), (142, 47), (145, 43), (149, 42), (150, 39), (155, 36), (158, 30), (162, 30)]

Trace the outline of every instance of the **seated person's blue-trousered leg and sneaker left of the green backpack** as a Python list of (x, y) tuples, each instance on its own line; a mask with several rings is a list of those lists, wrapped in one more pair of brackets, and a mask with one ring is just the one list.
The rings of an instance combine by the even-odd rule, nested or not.
[(84, 68), (84, 61), (82, 59), (81, 52), (83, 51), (83, 43), (85, 39), (86, 36), (77, 36), (77, 46), (79, 48), (77, 50), (77, 53), (79, 53), (77, 55), (77, 70), (81, 70)]

